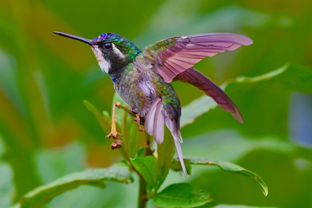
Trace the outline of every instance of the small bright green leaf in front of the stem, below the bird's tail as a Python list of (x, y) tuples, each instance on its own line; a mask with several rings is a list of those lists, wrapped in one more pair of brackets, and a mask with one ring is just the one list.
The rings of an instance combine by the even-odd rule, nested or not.
[(137, 157), (131, 159), (131, 163), (150, 186), (158, 189), (160, 170), (154, 156)]

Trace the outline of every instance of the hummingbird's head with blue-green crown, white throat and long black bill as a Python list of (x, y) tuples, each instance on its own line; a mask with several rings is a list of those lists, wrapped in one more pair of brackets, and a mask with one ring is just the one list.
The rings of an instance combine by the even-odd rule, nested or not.
[(125, 67), (132, 62), (141, 51), (127, 38), (123, 38), (114, 33), (104, 33), (93, 39), (80, 38), (60, 32), (54, 33), (90, 45), (97, 57), (101, 70), (108, 74), (114, 74), (117, 70)]

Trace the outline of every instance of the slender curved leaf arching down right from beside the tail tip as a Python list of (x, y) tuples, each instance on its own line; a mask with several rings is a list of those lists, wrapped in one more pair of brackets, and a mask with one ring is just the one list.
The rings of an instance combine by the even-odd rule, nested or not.
[[(192, 158), (183, 158), (183, 161), (185, 163), (185, 166), (188, 165), (210, 165), (210, 166), (217, 166), (219, 168), (221, 168), (222, 170), (228, 171), (228, 172), (236, 172), (236, 173), (240, 173), (243, 175), (247, 175), (249, 177), (251, 177), (254, 182), (256, 182), (256, 184), (258, 184), (260, 186), (260, 189), (262, 190), (262, 193), (267, 196), (268, 195), (268, 187), (267, 185), (264, 183), (264, 181), (260, 178), (259, 175), (257, 175), (256, 173), (250, 171), (250, 170), (246, 170), (243, 167), (240, 167), (234, 163), (230, 163), (230, 162), (225, 162), (225, 161), (218, 161), (218, 160), (209, 160), (209, 159), (204, 159), (204, 158), (198, 158), (198, 157), (192, 157)], [(175, 170), (176, 169), (176, 164), (180, 163), (177, 159), (174, 159), (173, 161), (173, 167)]]

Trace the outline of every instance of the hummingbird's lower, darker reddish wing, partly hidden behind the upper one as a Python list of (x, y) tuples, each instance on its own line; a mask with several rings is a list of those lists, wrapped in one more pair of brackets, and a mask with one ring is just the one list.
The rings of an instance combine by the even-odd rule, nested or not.
[(231, 112), (238, 122), (244, 122), (242, 114), (231, 98), (212, 80), (198, 72), (194, 67), (176, 75), (174, 81), (176, 80), (194, 85), (199, 90), (203, 91), (205, 95), (211, 96), (223, 110)]

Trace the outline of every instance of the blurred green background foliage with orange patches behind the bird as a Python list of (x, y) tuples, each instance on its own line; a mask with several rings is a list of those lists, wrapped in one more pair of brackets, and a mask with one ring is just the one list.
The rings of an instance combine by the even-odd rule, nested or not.
[[(289, 61), (312, 66), (309, 0), (1, 0), (1, 208), (67, 173), (108, 167), (121, 159), (82, 103), (89, 100), (110, 112), (115, 91), (109, 76), (86, 44), (52, 31), (84, 38), (114, 32), (139, 48), (171, 36), (200, 33), (252, 38), (250, 46), (196, 64), (217, 84), (238, 76), (260, 76)], [(304, 90), (308, 86), (292, 82), (292, 76), (297, 75), (286, 84), (268, 80), (229, 86), (227, 92), (244, 124), (217, 107), (181, 130), (184, 155), (231, 161), (254, 171), (268, 185), (267, 197), (252, 180), (212, 167), (195, 167), (187, 179), (170, 172), (163, 187), (188, 181), (207, 190), (215, 201), (203, 207), (311, 208), (312, 89)], [(311, 87), (311, 77), (308, 82)], [(182, 106), (202, 96), (190, 85), (173, 85)], [(130, 185), (108, 182), (106, 189), (82, 186), (45, 207), (136, 207), (135, 179)]]

